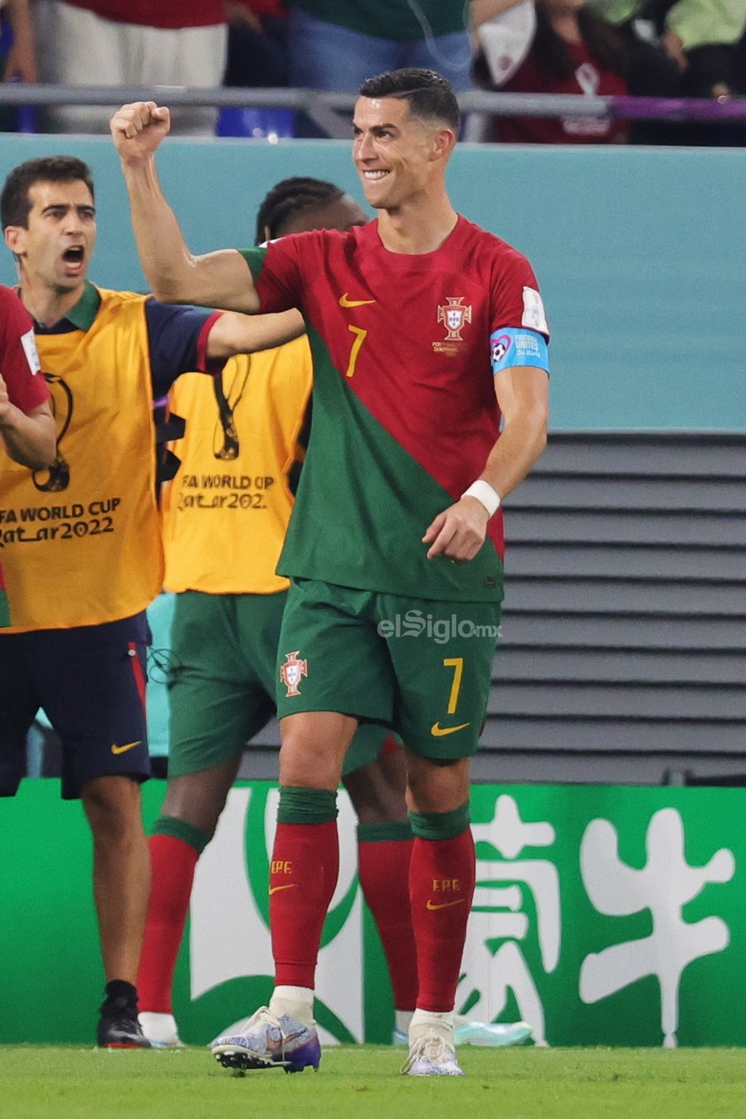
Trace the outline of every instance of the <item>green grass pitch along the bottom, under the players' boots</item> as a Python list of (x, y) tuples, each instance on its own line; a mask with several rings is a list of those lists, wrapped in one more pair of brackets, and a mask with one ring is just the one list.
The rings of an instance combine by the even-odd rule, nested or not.
[(0, 1049), (2, 1119), (746, 1119), (746, 1051), (464, 1046), (462, 1078), (403, 1050), (328, 1049), (321, 1070), (230, 1075), (206, 1050)]

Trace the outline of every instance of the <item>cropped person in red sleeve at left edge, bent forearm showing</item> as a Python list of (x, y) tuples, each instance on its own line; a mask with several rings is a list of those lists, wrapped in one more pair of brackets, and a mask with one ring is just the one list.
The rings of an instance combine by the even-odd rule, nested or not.
[(57, 449), (49, 389), (39, 374), (29, 313), (0, 286), (0, 439), (9, 458), (31, 470), (48, 467)]

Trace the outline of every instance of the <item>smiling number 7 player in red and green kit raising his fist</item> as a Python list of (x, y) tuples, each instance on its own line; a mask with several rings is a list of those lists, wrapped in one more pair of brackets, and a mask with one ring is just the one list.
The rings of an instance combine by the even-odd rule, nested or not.
[(252, 313), (298, 307), (313, 354), (313, 433), (278, 565), (292, 582), (270, 877), (276, 987), (214, 1052), (228, 1066), (319, 1064), (313, 982), (337, 877), (336, 791), (358, 723), (372, 721), (406, 743), (415, 833), (405, 1071), (461, 1075), (452, 1014), (475, 873), (469, 769), (500, 617), (500, 505), (546, 441), (533, 272), (453, 209), (459, 107), (432, 70), (360, 88), (352, 157), (377, 222), (245, 252), (186, 246), (154, 166), (168, 110), (138, 102), (111, 126), (153, 290)]

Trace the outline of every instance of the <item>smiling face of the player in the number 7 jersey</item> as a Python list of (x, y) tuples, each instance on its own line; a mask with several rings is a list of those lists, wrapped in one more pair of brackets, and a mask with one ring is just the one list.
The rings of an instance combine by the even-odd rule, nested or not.
[(435, 181), (443, 181), (453, 149), (453, 130), (414, 116), (399, 97), (360, 97), (352, 122), (352, 159), (366, 200), (376, 209), (397, 210)]

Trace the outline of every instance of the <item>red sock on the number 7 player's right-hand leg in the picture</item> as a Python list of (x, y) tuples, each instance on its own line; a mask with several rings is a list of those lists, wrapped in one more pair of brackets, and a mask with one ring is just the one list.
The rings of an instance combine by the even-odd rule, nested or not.
[(415, 836), (409, 897), (419, 974), (417, 1006), (422, 1010), (453, 1009), (474, 878), (470, 828), (453, 839)]

